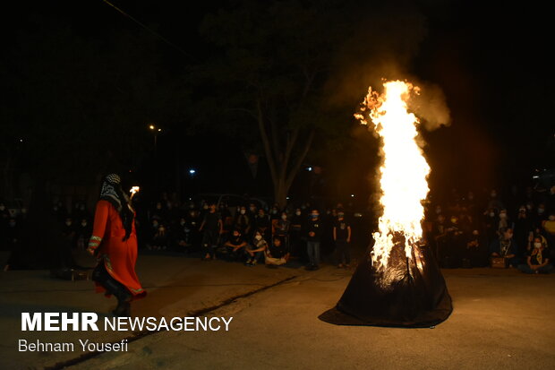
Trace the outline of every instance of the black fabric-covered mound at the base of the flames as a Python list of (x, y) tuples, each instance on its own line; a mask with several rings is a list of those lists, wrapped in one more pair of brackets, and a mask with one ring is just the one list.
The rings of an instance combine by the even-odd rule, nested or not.
[(425, 245), (406, 258), (395, 245), (385, 272), (377, 271), (371, 248), (339, 299), (320, 320), (337, 325), (372, 325), (423, 328), (445, 321), (453, 311), (440, 268)]

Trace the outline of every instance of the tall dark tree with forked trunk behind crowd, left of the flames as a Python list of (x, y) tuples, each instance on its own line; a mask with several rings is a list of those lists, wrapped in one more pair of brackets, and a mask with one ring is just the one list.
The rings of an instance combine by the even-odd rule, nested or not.
[(263, 151), (275, 201), (284, 206), (315, 138), (342, 122), (334, 119), (326, 82), (348, 19), (337, 16), (342, 9), (334, 1), (259, 3), (240, 2), (205, 19), (202, 34), (218, 54), (192, 69), (191, 81), (209, 97), (196, 102), (197, 118), (199, 110), (224, 115), (220, 129)]

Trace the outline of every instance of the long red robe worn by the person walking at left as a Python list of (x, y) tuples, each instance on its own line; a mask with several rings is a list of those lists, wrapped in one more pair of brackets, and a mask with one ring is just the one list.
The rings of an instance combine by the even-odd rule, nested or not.
[[(110, 276), (132, 293), (132, 299), (137, 299), (146, 296), (147, 292), (141, 287), (141, 282), (135, 273), (137, 233), (134, 222), (129, 238), (123, 241), (124, 236), (124, 224), (115, 207), (110, 202), (98, 201), (89, 247), (98, 248), (97, 255), (102, 258)], [(106, 291), (97, 282), (95, 284), (97, 292)]]

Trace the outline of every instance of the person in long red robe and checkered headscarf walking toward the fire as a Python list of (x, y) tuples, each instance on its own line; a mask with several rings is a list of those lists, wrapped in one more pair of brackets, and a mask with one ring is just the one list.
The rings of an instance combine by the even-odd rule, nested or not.
[(130, 302), (146, 296), (135, 273), (137, 261), (137, 234), (135, 214), (124, 194), (120, 176), (107, 175), (100, 190), (94, 226), (87, 251), (98, 257), (92, 273), (97, 292), (114, 295), (116, 316), (131, 314)]

